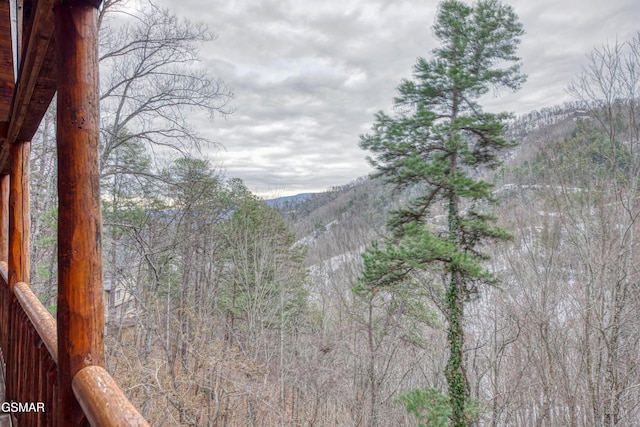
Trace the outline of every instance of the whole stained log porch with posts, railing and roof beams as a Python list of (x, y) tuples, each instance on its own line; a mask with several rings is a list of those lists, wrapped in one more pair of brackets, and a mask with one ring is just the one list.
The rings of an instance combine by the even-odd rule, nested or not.
[[(19, 426), (145, 426), (104, 369), (101, 0), (0, 0), (0, 351)], [(29, 149), (57, 92), (58, 313), (29, 288)], [(33, 408), (33, 407), (32, 407)]]

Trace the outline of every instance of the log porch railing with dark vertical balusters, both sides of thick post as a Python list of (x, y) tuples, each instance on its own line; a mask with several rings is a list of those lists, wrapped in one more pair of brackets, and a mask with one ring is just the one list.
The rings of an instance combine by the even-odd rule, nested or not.
[[(29, 405), (31, 411), (13, 414), (20, 427), (55, 426), (58, 423), (56, 320), (26, 283), (17, 283), (11, 295), (4, 262), (0, 262), (0, 298), (2, 364), (6, 366), (9, 393), (6, 401)], [(92, 426), (149, 426), (100, 366), (79, 371), (73, 379), (73, 391)]]

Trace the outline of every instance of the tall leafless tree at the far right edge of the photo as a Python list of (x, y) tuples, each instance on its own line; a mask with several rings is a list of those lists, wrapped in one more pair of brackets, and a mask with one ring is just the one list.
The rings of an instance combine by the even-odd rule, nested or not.
[[(637, 204), (640, 190), (640, 33), (626, 43), (616, 42), (594, 50), (580, 78), (569, 89), (585, 107), (596, 131), (605, 136), (595, 159), (611, 171), (607, 192), (613, 197), (598, 197), (590, 206), (601, 221), (593, 224), (597, 234), (581, 231), (586, 288), (584, 350), (590, 376), (594, 422), (606, 426), (633, 423), (637, 418), (628, 412), (630, 375), (635, 363), (627, 360), (637, 345), (635, 320), (631, 315), (638, 251)], [(606, 206), (606, 208), (605, 208)], [(598, 218), (598, 217), (596, 217)], [(576, 224), (578, 225), (578, 224)], [(601, 244), (607, 242), (607, 249)], [(600, 250), (598, 250), (600, 249)], [(635, 338), (634, 338), (635, 337)], [(629, 341), (629, 338), (631, 340)], [(630, 370), (631, 369), (631, 370)], [(631, 418), (629, 418), (631, 416)], [(637, 413), (635, 415), (637, 417)]]

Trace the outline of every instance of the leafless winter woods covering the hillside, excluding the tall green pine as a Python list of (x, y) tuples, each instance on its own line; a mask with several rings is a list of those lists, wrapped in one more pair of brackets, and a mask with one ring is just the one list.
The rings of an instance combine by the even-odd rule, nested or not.
[[(213, 35), (151, 3), (118, 20), (120, 3), (101, 17), (101, 154), (107, 364), (123, 390), (157, 426), (409, 426), (425, 408), (448, 425), (438, 396), (403, 404), (447, 389), (441, 281), (355, 289), (388, 212), (422, 188), (363, 178), (270, 208), (203, 158), (211, 143), (183, 114), (231, 113), (195, 62)], [(640, 36), (596, 49), (569, 91), (514, 120), (519, 146), (479, 172), (513, 240), (486, 247), (500, 283), (466, 301), (469, 425), (640, 425)], [(31, 277), (55, 311), (48, 117)]]

